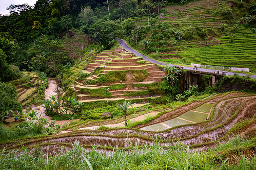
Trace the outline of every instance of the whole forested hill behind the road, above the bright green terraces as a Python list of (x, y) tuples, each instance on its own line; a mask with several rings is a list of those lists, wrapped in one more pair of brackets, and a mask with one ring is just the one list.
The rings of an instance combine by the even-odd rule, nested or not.
[[(63, 66), (73, 65), (77, 58), (82, 62), (84, 57), (86, 61), (88, 50), (109, 49), (116, 43), (114, 37), (127, 39), (154, 58), (174, 57), (181, 60), (170, 62), (184, 62), (184, 54), (176, 52), (200, 44), (222, 44), (227, 39), (232, 43), (244, 32), (245, 39), (250, 38), (255, 32), (255, 7), (255, 1), (249, 0), (39, 0), (34, 7), (10, 5), (9, 15), (0, 16), (0, 78), (4, 82), (17, 79), (22, 75), (18, 70), (44, 71), (52, 76), (52, 69), (47, 66), (50, 54), (61, 54)], [(76, 57), (68, 58), (63, 40), (75, 35), (77, 30), (80, 35), (90, 35), (94, 46), (80, 45), (79, 52), (71, 52)], [(237, 62), (236, 66), (251, 68), (255, 64), (255, 56), (246, 55), (250, 60)]]

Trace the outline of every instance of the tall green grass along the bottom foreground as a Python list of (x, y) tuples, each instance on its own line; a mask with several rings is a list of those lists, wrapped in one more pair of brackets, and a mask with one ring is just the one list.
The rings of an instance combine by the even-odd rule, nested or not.
[(209, 153), (191, 151), (184, 145), (170, 144), (169, 148), (139, 147), (129, 150), (117, 147), (112, 152), (92, 147), (85, 149), (78, 142), (72, 148), (59, 148), (59, 152), (43, 154), (36, 148), (31, 151), (13, 150), (0, 155), (0, 169), (253, 169), (255, 156), (236, 157), (235, 164), (228, 159), (215, 162)]

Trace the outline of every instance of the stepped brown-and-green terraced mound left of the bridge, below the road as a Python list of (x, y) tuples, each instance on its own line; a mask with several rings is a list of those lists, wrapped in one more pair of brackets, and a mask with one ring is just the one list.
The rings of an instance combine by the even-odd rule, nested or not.
[[(97, 70), (100, 70), (100, 74), (95, 73)], [(115, 48), (114, 51), (105, 50), (97, 54), (82, 72), (87, 74), (87, 78), (75, 81), (71, 89), (76, 91), (78, 101), (83, 103), (159, 98), (161, 95), (151, 93), (147, 84), (151, 86), (155, 83), (157, 87), (157, 83), (163, 81), (165, 76), (156, 64), (136, 57), (123, 48)], [(101, 77), (112, 72), (115, 75), (105, 78), (109, 81), (90, 84), (93, 81), (100, 82)], [(120, 75), (124, 75), (121, 80), (115, 79)]]

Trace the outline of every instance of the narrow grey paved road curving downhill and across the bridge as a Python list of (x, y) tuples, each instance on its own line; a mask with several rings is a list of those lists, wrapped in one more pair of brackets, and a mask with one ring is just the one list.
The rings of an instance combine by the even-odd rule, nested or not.
[[(183, 67), (184, 69), (187, 69), (187, 70), (194, 70), (193, 67), (181, 66), (181, 65), (175, 65), (175, 64), (166, 64), (166, 63), (162, 63), (162, 62), (159, 62), (159, 61), (155, 61), (155, 60), (153, 60), (151, 58), (148, 58), (145, 55), (143, 55), (143, 54), (133, 50), (130, 46), (127, 45), (125, 40), (122, 40), (122, 39), (119, 39), (119, 38), (115, 38), (115, 39), (120, 43), (120, 45), (123, 48), (125, 48), (125, 50), (134, 53), (136, 56), (143, 57), (144, 60), (149, 61), (151, 63), (158, 64), (158, 65), (169, 65), (169, 66)], [(231, 76), (234, 75), (234, 72), (223, 71), (223, 70), (216, 70), (216, 69), (214, 70), (214, 69), (207, 69), (207, 68), (198, 68), (197, 72), (198, 71), (208, 72), (209, 74), (211, 74), (213, 72), (214, 73), (218, 72), (219, 74), (223, 74), (223, 75), (224, 74), (231, 75)], [(237, 73), (237, 74), (239, 76), (247, 76), (246, 74), (242, 74), (242, 73)], [(250, 77), (253, 78), (253, 79), (256, 79), (256, 75), (251, 75)]]

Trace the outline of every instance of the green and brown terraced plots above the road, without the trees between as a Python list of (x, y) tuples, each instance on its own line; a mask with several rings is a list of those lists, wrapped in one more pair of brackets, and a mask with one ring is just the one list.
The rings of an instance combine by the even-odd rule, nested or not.
[[(250, 68), (250, 71), (256, 71), (256, 34), (252, 31), (245, 30), (243, 26), (238, 29), (234, 43), (230, 43), (230, 37), (220, 33), (220, 26), (225, 20), (220, 16), (215, 16), (214, 12), (220, 9), (221, 4), (227, 5), (227, 2), (214, 0), (202, 0), (191, 2), (183, 6), (167, 6), (166, 15), (161, 22), (167, 22), (172, 28), (186, 32), (190, 26), (195, 29), (204, 28), (214, 30), (210, 38), (216, 37), (220, 40), (221, 45), (201, 46), (199, 41), (202, 39), (183, 40), (184, 42), (173, 44), (169, 38), (163, 38), (162, 34), (152, 35), (149, 38), (152, 48), (152, 57), (155, 51), (161, 52), (164, 59), (162, 61), (170, 64), (190, 63), (224, 66), (224, 67), (242, 67)], [(148, 25), (147, 18), (139, 18), (137, 22)], [(231, 26), (230, 26), (231, 27)], [(157, 31), (155, 31), (157, 32)], [(158, 32), (161, 32), (160, 30)], [(195, 30), (196, 32), (196, 30)], [(194, 33), (196, 34), (196, 33)], [(159, 41), (162, 41), (162, 44)]]

